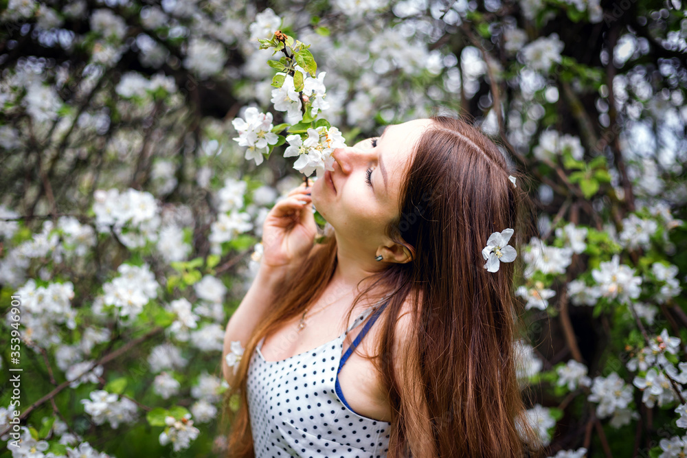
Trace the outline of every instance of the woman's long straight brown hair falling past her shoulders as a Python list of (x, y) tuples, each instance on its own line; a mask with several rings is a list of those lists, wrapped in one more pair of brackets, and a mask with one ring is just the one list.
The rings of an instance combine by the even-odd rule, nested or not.
[[(526, 420), (515, 370), (521, 312), (513, 289), (516, 263), (489, 273), (482, 257), (491, 233), (515, 229), (510, 244), (519, 248), (531, 231), (523, 213), (523, 176), (470, 124), (431, 119), (401, 185), (399, 217), (387, 227), (392, 240), (414, 247), (414, 258), (374, 275), (352, 306), (373, 286), (383, 285), (391, 295), (372, 356), (392, 407), (387, 456), (538, 457), (542, 450)], [(254, 456), (246, 396), (250, 356), (262, 337), (324, 292), (336, 253), (333, 236), (313, 248), (247, 343), (238, 383), (225, 402), (232, 426), (229, 457)], [(404, 303), (410, 304), (412, 324), (401, 360), (392, 362)], [(236, 413), (227, 407), (232, 396), (239, 398)]]

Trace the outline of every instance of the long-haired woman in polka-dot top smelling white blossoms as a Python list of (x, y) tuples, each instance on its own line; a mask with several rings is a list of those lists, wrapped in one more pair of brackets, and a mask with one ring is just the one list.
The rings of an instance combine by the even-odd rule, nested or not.
[[(491, 233), (519, 235), (515, 173), (449, 117), (333, 157), (270, 211), (227, 324), (223, 356), (245, 347), (223, 364), (242, 400), (229, 456), (527, 456), (513, 263), (489, 272), (482, 257)], [(311, 203), (333, 227), (314, 246)]]

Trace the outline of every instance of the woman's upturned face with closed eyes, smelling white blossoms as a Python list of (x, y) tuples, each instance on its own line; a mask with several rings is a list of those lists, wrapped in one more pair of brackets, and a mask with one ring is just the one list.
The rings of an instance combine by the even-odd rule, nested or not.
[(337, 238), (370, 249), (387, 242), (385, 227), (398, 216), (414, 146), (430, 125), (431, 119), (415, 119), (388, 126), (381, 137), (334, 151), (334, 171), (315, 181), (312, 197)]

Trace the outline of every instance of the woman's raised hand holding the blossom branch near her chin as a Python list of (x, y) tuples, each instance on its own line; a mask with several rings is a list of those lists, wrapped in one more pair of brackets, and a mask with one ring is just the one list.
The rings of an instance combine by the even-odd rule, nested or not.
[(303, 183), (267, 214), (262, 225), (262, 266), (288, 269), (310, 253), (317, 235), (310, 190)]

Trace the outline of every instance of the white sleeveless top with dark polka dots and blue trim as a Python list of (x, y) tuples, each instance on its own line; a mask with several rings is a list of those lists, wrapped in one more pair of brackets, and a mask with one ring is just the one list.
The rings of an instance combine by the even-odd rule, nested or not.
[[(258, 343), (247, 380), (256, 458), (387, 456), (391, 423), (350, 409), (338, 379), (343, 363), (385, 306), (363, 312), (333, 341), (284, 360), (265, 360), (260, 352), (264, 339)], [(370, 314), (372, 318), (341, 356), (348, 332)]]

